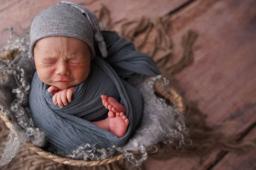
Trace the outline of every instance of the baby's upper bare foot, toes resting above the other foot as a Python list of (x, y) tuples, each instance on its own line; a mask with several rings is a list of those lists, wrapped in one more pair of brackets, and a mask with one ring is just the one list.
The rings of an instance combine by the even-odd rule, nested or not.
[(105, 106), (106, 109), (109, 111), (116, 112), (126, 112), (126, 108), (124, 105), (121, 105), (116, 99), (113, 97), (108, 97), (104, 94), (100, 96), (102, 98), (102, 104)]

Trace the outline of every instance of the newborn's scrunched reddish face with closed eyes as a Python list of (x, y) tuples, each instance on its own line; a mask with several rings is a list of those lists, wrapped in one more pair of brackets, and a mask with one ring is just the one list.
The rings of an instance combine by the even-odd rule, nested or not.
[(64, 90), (88, 77), (91, 51), (87, 43), (73, 37), (44, 37), (35, 44), (34, 59), (39, 79)]

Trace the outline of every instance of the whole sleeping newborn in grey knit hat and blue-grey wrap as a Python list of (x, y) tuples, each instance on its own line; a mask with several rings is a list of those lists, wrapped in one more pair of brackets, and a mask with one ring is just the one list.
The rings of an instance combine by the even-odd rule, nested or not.
[(138, 89), (122, 77), (160, 74), (154, 61), (95, 14), (62, 1), (33, 20), (29, 52), (36, 72), (29, 93), (34, 125), (47, 150), (69, 154), (83, 144), (123, 146), (143, 113)]

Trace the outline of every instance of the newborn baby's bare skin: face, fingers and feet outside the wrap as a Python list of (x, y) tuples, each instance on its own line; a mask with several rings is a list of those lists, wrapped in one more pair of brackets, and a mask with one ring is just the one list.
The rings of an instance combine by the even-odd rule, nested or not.
[[(53, 103), (65, 107), (71, 102), (75, 86), (87, 79), (92, 55), (89, 46), (82, 40), (53, 36), (36, 42), (34, 59), (38, 77), (51, 85), (47, 91), (54, 94)], [(129, 124), (125, 106), (113, 97), (102, 94), (101, 98), (102, 104), (109, 110), (108, 117), (92, 123), (118, 137), (124, 136)]]

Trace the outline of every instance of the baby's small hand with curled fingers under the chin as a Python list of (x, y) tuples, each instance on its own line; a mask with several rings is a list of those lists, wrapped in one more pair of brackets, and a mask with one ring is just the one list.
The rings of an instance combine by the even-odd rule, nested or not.
[(59, 90), (55, 86), (51, 86), (47, 89), (49, 93), (54, 94), (52, 97), (52, 102), (60, 108), (63, 107), (63, 105), (67, 105), (67, 100), (68, 102), (71, 102), (72, 94), (75, 91), (75, 87), (67, 88), (64, 90)]

